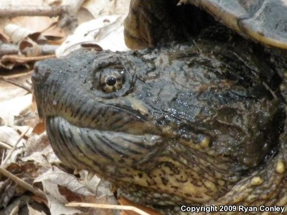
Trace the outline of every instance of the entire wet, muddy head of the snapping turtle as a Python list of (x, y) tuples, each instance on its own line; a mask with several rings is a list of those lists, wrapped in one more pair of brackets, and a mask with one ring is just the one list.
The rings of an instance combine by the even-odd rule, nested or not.
[(34, 92), (55, 154), (147, 204), (223, 195), (276, 153), (283, 126), (270, 92), (278, 85), (253, 76), (270, 67), (228, 64), (224, 49), (197, 41), (37, 63)]

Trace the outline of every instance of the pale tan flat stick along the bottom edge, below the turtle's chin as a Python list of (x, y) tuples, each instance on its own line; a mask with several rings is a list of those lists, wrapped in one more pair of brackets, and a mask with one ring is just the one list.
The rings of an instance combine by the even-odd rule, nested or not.
[(126, 205), (107, 205), (107, 204), (92, 204), (92, 203), (81, 203), (81, 202), (71, 202), (66, 204), (69, 207), (88, 207), (88, 208), (102, 208), (102, 209), (117, 209), (117, 210), (126, 210), (126, 211), (133, 211), (140, 215), (149, 215), (133, 206), (126, 206)]

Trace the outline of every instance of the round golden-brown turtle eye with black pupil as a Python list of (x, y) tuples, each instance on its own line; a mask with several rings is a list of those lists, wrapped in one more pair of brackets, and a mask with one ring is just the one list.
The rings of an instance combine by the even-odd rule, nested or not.
[(122, 88), (124, 84), (124, 71), (106, 68), (101, 71), (99, 86), (105, 93), (112, 93)]

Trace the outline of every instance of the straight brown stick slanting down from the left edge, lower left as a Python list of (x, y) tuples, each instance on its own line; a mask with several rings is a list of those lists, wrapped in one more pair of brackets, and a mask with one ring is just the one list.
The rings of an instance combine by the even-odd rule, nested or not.
[(28, 184), (26, 181), (18, 178), (16, 175), (13, 175), (11, 172), (7, 171), (6, 169), (0, 167), (0, 173), (5, 175), (7, 178), (10, 178), (15, 183), (19, 184), (21, 187), (31, 191), (37, 196), (40, 196), (42, 199), (47, 200), (45, 193), (42, 190), (34, 188), (31, 184)]

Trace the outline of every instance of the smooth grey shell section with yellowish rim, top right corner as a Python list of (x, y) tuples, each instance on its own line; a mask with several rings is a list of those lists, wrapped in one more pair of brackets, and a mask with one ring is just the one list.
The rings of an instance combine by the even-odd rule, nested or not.
[(182, 0), (213, 15), (239, 34), (287, 49), (287, 0)]

